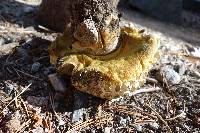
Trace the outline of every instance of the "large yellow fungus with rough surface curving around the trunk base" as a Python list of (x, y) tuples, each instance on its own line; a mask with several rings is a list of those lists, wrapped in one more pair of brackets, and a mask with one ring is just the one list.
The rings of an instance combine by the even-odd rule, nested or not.
[[(59, 51), (52, 47), (58, 47), (59, 44), (52, 45), (49, 49), (50, 57), (55, 62)], [(67, 51), (62, 52), (64, 56), (57, 61), (57, 69), (59, 73), (71, 76), (72, 85), (76, 89), (113, 99), (133, 92), (144, 84), (148, 71), (159, 57), (158, 47), (159, 43), (154, 37), (140, 33), (139, 30), (123, 28), (119, 48), (112, 53), (94, 56), (65, 48)]]

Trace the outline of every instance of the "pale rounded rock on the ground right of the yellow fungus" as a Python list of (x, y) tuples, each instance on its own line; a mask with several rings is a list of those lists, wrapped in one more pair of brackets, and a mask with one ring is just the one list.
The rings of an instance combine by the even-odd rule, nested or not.
[(178, 84), (181, 81), (180, 75), (171, 66), (161, 67), (156, 74), (156, 78), (158, 81), (167, 82), (170, 85)]

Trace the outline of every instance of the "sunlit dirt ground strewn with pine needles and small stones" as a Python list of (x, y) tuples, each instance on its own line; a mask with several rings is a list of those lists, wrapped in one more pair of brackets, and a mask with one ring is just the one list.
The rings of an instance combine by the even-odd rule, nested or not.
[(47, 48), (60, 33), (34, 20), (39, 2), (0, 1), (0, 132), (200, 132), (199, 14), (185, 11), (173, 25), (120, 7), (121, 26), (157, 36), (161, 58), (140, 92), (106, 101), (76, 91), (69, 77), (65, 92), (52, 87)]

